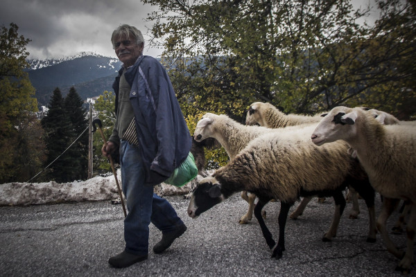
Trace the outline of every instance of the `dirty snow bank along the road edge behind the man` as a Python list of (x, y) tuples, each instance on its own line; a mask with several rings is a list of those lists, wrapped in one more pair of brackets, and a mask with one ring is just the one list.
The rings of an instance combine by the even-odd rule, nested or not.
[[(121, 186), (120, 170), (117, 179)], [(155, 193), (164, 195), (185, 195), (195, 185), (195, 180), (182, 188), (168, 184), (155, 186)], [(58, 204), (65, 202), (87, 202), (116, 199), (119, 197), (114, 175), (94, 177), (86, 181), (73, 181), (58, 184), (46, 183), (7, 183), (0, 184), (0, 206)]]

